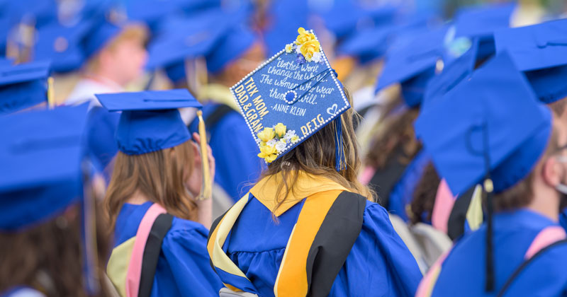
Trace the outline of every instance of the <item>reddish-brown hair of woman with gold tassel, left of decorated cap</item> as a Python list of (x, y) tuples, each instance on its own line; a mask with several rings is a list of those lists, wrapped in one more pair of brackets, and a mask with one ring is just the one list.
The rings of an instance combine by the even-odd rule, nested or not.
[(163, 206), (169, 214), (195, 220), (197, 204), (185, 186), (193, 163), (191, 141), (141, 155), (130, 156), (118, 151), (104, 199), (111, 230), (115, 228), (123, 204), (137, 191)]

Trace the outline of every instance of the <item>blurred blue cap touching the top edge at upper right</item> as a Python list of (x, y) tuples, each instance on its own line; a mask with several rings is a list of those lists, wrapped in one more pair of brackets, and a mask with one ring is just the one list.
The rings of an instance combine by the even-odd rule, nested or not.
[(477, 59), (495, 54), (495, 30), (510, 27), (510, 17), (516, 4), (486, 4), (459, 9), (454, 17), (455, 37), (477, 38)]

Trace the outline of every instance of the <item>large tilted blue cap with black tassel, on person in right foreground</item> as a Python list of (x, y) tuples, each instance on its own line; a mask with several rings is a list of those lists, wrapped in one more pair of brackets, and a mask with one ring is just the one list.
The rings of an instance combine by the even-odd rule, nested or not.
[(415, 132), (451, 192), (465, 192), (487, 173), (502, 192), (544, 152), (551, 114), (503, 52), (422, 112)]

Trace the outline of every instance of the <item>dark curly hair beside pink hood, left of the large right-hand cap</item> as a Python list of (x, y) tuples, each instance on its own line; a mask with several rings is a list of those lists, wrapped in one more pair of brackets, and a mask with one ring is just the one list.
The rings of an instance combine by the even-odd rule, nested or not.
[(413, 191), (410, 214), (408, 214), (412, 224), (422, 222), (423, 214), (427, 214), (427, 221), (431, 221), (439, 182), (441, 182), (441, 178), (437, 174), (433, 163), (428, 163), (423, 169), (420, 181), (417, 182)]

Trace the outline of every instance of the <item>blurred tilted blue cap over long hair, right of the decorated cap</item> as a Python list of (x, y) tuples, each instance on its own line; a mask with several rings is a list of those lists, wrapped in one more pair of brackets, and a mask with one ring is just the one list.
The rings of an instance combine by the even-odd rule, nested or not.
[[(400, 83), (405, 103), (419, 105), (429, 79), (434, 76), (438, 61), (444, 57), (444, 38), (447, 27), (421, 33), (412, 41), (392, 48), (378, 78), (376, 92), (393, 83)], [(437, 71), (442, 69), (437, 69)]]

